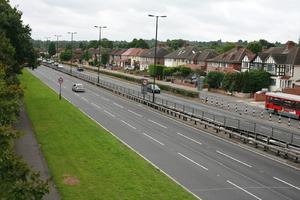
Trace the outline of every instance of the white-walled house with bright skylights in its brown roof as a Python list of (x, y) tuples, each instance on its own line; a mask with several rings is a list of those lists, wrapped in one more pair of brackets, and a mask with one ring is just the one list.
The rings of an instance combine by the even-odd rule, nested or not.
[(165, 56), (165, 66), (178, 67), (187, 64), (197, 64), (200, 52), (196, 47), (182, 47)]

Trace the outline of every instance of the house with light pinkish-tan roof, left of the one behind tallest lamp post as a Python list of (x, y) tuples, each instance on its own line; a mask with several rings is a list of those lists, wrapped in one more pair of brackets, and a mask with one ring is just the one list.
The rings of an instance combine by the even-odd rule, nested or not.
[(140, 57), (139, 55), (146, 49), (142, 48), (130, 48), (127, 49), (121, 55), (121, 67), (134, 69), (140, 67)]

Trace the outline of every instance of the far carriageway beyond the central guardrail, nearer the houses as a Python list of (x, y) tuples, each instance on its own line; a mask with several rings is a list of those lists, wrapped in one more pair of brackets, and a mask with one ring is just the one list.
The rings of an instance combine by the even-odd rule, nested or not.
[[(65, 65), (64, 67), (67, 70), (70, 70), (68, 65)], [(94, 78), (97, 77), (97, 74), (94, 72), (90, 72), (90, 71), (78, 72), (76, 68), (73, 68), (73, 70), (77, 73), (85, 74)], [(140, 86), (137, 84), (132, 84), (126, 81), (114, 79), (112, 77), (103, 74), (100, 74), (100, 79), (135, 91), (140, 91)], [(299, 129), (295, 128), (294, 126), (288, 127), (287, 125), (284, 125), (284, 118), (282, 118), (282, 123), (279, 124), (277, 122), (274, 123), (268, 120), (263, 120), (260, 118), (258, 119), (252, 117), (251, 115), (245, 115), (244, 112), (236, 113), (233, 112), (232, 110), (220, 109), (215, 105), (212, 106), (212, 105), (203, 104), (199, 101), (193, 101), (190, 99), (186, 99), (174, 95), (169, 95), (164, 92), (161, 94), (156, 94), (156, 97), (168, 100), (169, 105), (173, 107), (177, 106), (177, 108), (180, 108), (180, 105), (184, 105), (186, 107), (185, 111), (187, 112), (192, 112), (191, 109), (193, 109), (195, 110), (195, 115), (201, 117), (203, 116), (209, 119), (214, 119), (219, 123), (223, 123), (224, 121), (226, 121), (227, 126), (243, 128), (244, 130), (257, 132), (265, 136), (270, 136), (279, 139), (281, 141), (285, 141), (286, 143), (292, 143), (294, 145), (300, 146)], [(157, 102), (161, 102), (161, 101), (157, 100)], [(171, 102), (173, 102), (173, 104)], [(189, 107), (190, 109), (188, 109), (187, 107)]]

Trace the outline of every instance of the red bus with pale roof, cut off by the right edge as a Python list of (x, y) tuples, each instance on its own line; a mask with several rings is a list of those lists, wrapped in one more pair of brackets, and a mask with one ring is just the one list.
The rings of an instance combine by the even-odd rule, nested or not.
[(300, 96), (280, 92), (267, 92), (265, 108), (275, 114), (299, 119)]

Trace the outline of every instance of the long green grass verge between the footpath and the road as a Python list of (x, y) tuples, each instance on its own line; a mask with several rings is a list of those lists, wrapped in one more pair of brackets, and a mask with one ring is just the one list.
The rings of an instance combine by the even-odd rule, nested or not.
[[(195, 199), (27, 70), (25, 107), (62, 199)], [(64, 176), (77, 185), (66, 185)]]

